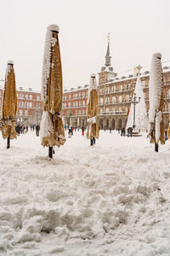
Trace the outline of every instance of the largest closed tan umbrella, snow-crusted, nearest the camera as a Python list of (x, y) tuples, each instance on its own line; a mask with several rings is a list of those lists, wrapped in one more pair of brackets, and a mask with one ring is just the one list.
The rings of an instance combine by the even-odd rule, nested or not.
[(60, 116), (63, 84), (58, 34), (59, 26), (48, 26), (42, 65), (43, 113), (40, 136), (42, 146), (49, 147), (51, 158), (52, 147), (65, 143), (64, 125)]

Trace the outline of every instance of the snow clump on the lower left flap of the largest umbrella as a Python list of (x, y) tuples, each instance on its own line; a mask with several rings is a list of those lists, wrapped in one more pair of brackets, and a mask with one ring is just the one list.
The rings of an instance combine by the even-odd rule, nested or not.
[(40, 126), (40, 139), (42, 143), (44, 137), (49, 137), (51, 134), (54, 133), (54, 125), (52, 124), (48, 111), (43, 111)]

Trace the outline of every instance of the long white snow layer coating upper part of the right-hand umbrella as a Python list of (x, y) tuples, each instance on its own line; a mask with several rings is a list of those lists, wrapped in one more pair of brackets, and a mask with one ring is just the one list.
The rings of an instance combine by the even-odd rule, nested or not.
[(161, 54), (156, 53), (152, 55), (151, 67), (150, 67), (150, 84), (149, 84), (149, 96), (150, 96), (150, 111), (149, 121), (155, 122), (156, 110), (159, 108), (161, 91), (163, 90), (162, 78), (161, 78)]

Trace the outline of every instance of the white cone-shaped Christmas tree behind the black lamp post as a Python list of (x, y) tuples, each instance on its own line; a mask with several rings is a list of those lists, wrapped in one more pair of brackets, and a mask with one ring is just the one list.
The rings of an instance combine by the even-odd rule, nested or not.
[[(137, 101), (139, 101), (139, 97), (140, 97), (140, 102), (135, 105), (135, 129), (145, 131), (148, 129), (148, 118), (147, 118), (145, 101), (144, 101), (144, 91), (143, 91), (140, 76), (138, 76), (134, 93), (136, 93)], [(133, 103), (131, 103), (126, 129), (128, 127), (133, 127), (133, 110), (134, 110), (133, 108), (134, 108), (134, 105)]]

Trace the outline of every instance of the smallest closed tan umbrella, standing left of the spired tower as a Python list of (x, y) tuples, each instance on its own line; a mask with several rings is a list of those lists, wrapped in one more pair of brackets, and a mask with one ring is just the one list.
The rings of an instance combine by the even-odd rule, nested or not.
[(99, 125), (98, 125), (98, 92), (95, 74), (91, 74), (90, 84), (88, 87), (88, 130), (87, 137), (90, 139), (90, 145), (93, 146), (95, 139), (99, 138)]

